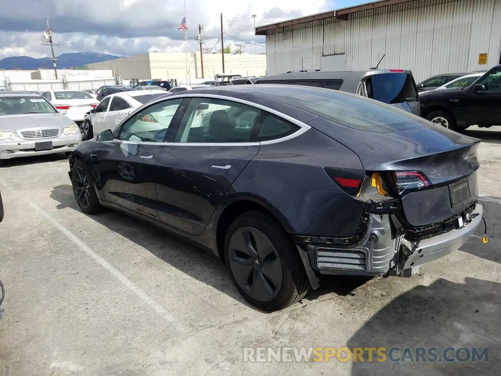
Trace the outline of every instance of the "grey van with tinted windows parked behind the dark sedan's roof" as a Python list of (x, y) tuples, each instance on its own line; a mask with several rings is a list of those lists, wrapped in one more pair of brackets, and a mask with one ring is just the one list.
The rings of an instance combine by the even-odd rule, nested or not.
[(362, 71), (295, 71), (262, 77), (256, 84), (315, 86), (355, 93), (420, 114), (419, 95), (411, 71), (368, 69)]

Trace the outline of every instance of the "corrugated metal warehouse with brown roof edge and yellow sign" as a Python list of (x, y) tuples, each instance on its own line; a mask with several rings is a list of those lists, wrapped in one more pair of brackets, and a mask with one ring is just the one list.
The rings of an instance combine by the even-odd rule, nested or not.
[(410, 69), (435, 74), (501, 63), (501, 0), (382, 0), (260, 26), (268, 74)]

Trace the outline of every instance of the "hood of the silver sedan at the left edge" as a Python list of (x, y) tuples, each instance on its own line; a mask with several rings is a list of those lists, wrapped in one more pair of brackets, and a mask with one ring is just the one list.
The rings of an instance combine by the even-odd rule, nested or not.
[(0, 116), (0, 129), (15, 131), (26, 128), (64, 128), (73, 123), (60, 113)]

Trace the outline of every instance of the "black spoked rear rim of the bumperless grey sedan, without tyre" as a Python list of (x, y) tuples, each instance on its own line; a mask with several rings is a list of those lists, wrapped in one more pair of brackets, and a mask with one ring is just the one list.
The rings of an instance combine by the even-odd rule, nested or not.
[(243, 227), (229, 242), (229, 265), (238, 284), (259, 301), (273, 299), (282, 285), (282, 265), (273, 243), (261, 231)]

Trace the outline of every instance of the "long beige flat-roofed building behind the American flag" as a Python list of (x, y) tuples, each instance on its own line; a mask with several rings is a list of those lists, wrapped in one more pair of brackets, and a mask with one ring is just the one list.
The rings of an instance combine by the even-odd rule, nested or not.
[[(111, 69), (124, 79), (177, 79), (186, 83), (185, 53), (148, 53), (129, 56), (101, 63), (88, 64), (89, 69)], [(203, 54), (203, 73), (206, 80), (223, 73), (221, 54)], [(242, 76), (265, 76), (266, 55), (224, 54), (224, 73)], [(188, 81), (202, 78), (199, 53), (188, 53)]]

